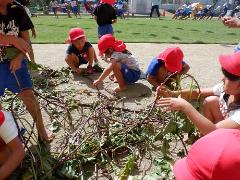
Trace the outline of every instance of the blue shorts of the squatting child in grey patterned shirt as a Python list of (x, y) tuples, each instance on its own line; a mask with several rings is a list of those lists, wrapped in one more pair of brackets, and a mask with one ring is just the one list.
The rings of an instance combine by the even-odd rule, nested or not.
[(121, 64), (121, 72), (127, 83), (135, 83), (140, 79), (141, 72), (129, 69), (126, 64)]

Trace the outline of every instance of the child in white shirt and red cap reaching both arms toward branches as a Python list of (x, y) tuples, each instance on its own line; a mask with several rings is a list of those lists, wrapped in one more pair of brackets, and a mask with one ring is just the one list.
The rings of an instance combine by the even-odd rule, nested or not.
[[(166, 92), (158, 87), (158, 93), (164, 96), (178, 98), (162, 98), (158, 106), (167, 107), (169, 110), (183, 111), (188, 118), (197, 126), (202, 134), (208, 134), (219, 128), (240, 128), (240, 52), (233, 55), (221, 55), (219, 62), (223, 72), (223, 83), (213, 88), (204, 88), (200, 94), (196, 90), (183, 90)], [(190, 91), (192, 93), (190, 93)], [(203, 103), (203, 115), (201, 115), (185, 99), (206, 97)]]

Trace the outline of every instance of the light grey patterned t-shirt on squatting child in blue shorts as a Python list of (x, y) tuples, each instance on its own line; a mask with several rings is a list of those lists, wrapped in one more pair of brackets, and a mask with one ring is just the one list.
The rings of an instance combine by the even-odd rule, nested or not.
[(139, 63), (133, 55), (115, 51), (111, 55), (111, 59), (112, 58), (115, 59), (116, 62), (126, 64), (129, 69), (140, 71)]

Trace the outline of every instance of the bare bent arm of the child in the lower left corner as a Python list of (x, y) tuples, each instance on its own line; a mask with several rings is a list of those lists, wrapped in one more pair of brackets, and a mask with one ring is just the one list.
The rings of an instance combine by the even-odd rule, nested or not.
[(7, 148), (11, 153), (8, 159), (6, 159), (5, 162), (0, 166), (0, 179), (7, 178), (18, 167), (25, 156), (22, 143), (18, 137), (15, 137), (6, 145), (6, 147), (4, 146), (3, 148)]

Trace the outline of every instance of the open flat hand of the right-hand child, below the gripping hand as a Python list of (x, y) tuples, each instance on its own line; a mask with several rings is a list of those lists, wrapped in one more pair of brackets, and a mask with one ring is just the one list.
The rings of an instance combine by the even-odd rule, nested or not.
[(157, 101), (156, 105), (159, 107), (166, 107), (167, 110), (185, 111), (189, 103), (181, 97), (161, 98)]

